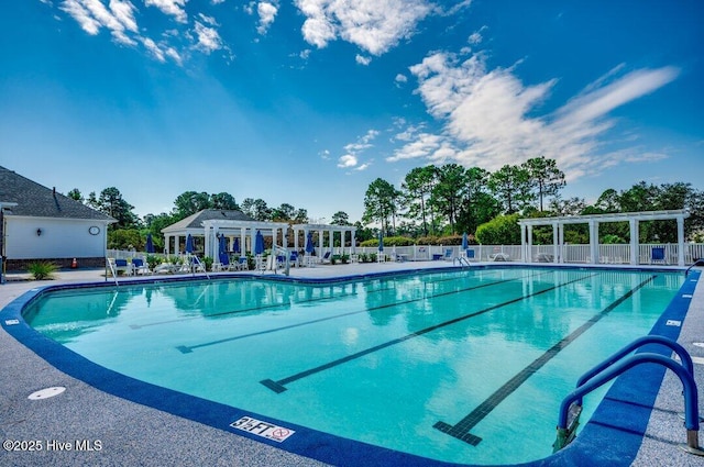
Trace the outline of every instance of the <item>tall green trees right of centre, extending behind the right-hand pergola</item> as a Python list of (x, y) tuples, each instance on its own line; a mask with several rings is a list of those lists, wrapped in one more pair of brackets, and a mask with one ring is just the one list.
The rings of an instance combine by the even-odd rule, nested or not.
[[(399, 188), (377, 178), (364, 196), (365, 224), (375, 223), (387, 236), (433, 237), (477, 234), (484, 244), (520, 243), (520, 218), (606, 214), (688, 209), (685, 236), (704, 241), (704, 192), (691, 184), (652, 185), (640, 181), (629, 189), (605, 190), (588, 204), (583, 198), (563, 199), (564, 173), (543, 156), (520, 165), (505, 165), (494, 173), (458, 164), (411, 169)], [(512, 229), (507, 226), (512, 225)], [(480, 229), (484, 227), (484, 229)], [(552, 230), (536, 229), (536, 244), (551, 244)], [(483, 234), (483, 238), (482, 235)], [(626, 243), (627, 222), (600, 229), (602, 243)], [(641, 222), (641, 242), (676, 242), (673, 222)], [(586, 226), (570, 225), (565, 241), (587, 243)]]

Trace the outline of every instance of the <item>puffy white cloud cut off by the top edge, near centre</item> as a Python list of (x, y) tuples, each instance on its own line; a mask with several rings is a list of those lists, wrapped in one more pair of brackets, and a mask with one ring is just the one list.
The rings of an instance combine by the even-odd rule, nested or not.
[(378, 56), (415, 33), (430, 14), (426, 0), (296, 0), (304, 38), (319, 48), (338, 37)]

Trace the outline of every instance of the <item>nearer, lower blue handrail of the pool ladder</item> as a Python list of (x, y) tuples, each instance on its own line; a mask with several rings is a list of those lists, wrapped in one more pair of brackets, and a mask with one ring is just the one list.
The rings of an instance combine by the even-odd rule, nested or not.
[[(684, 426), (686, 427), (686, 444), (680, 445), (682, 449), (690, 454), (704, 456), (704, 451), (700, 448), (698, 444), (698, 430), (700, 430), (700, 416), (698, 416), (698, 400), (696, 393), (696, 383), (690, 371), (680, 365), (672, 358), (663, 357), (659, 354), (636, 354), (618, 364), (608, 367), (605, 371), (590, 379), (584, 385), (578, 387), (574, 391), (570, 392), (560, 404), (560, 415), (558, 419), (558, 437), (553, 444), (553, 452), (558, 452), (566, 446), (574, 438), (574, 429), (576, 425), (568, 424), (568, 418), (570, 414), (570, 408), (572, 403), (581, 400), (584, 394), (592, 392), (598, 387), (605, 385), (612, 379), (620, 376), (628, 369), (646, 364), (654, 363), (670, 368), (682, 382), (683, 396), (684, 396)], [(579, 416), (579, 414), (578, 414)]]

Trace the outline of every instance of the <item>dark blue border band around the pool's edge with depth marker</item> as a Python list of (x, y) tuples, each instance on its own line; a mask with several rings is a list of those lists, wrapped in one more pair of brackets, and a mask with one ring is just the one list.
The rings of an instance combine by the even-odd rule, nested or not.
[[(505, 267), (504, 265), (502, 266)], [(447, 270), (457, 271), (458, 268), (448, 267), (431, 270), (385, 271), (382, 274), (365, 274), (324, 279), (292, 279), (287, 277), (261, 275), (219, 275), (217, 277), (213, 276), (212, 279), (287, 280), (296, 283), (317, 285), (366, 280), (384, 276), (421, 273), (431, 274)], [(669, 270), (669, 273), (672, 273), (672, 270)], [(663, 335), (672, 340), (678, 338), (681, 327), (668, 326), (666, 323), (668, 320), (683, 321), (686, 316), (691, 298), (684, 298), (683, 296), (689, 294), (691, 297), (698, 281), (700, 273), (694, 271), (689, 277), (690, 280), (684, 281), (666, 311), (653, 325), (650, 334)], [(194, 279), (205, 278), (184, 277), (175, 278), (175, 280), (144, 279), (125, 281), (122, 282), (122, 285), (174, 283), (178, 281), (193, 281)], [(0, 311), (1, 324), (8, 334), (33, 351), (48, 364), (99, 390), (226, 432), (262, 442), (289, 453), (334, 465), (474, 466), (471, 464), (444, 463), (369, 445), (140, 381), (94, 364), (63, 345), (45, 337), (26, 324), (22, 316), (24, 309), (46, 292), (101, 287), (112, 288), (114, 283), (85, 282), (50, 285), (31, 289)], [(18, 324), (8, 324), (8, 321), (11, 322), (11, 320), (18, 320)], [(639, 352), (656, 352), (666, 356), (670, 355), (670, 353), (661, 346), (646, 346)], [(572, 444), (552, 456), (520, 465), (629, 465), (635, 459), (642, 442), (654, 398), (660, 389), (664, 374), (664, 368), (648, 365), (632, 368), (628, 373), (619, 376), (606, 393), (605, 399), (598, 404), (592, 419), (585, 424)], [(636, 381), (637, 383), (635, 383)], [(588, 397), (585, 399), (585, 403), (588, 403)], [(638, 410), (634, 410), (634, 407)], [(283, 443), (277, 443), (230, 427), (230, 423), (239, 420), (241, 416), (252, 416), (290, 427), (296, 431), (296, 435)], [(627, 429), (623, 429), (623, 423), (625, 423)], [(616, 464), (614, 464), (615, 462)]]

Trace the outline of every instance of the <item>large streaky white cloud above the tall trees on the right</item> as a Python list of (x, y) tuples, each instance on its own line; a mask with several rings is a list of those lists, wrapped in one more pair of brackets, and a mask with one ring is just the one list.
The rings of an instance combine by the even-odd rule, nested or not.
[(515, 67), (487, 70), (481, 54), (461, 62), (457, 55), (435, 53), (410, 71), (418, 78), (417, 92), (443, 129), (440, 134), (413, 127), (399, 133), (396, 140), (406, 144), (387, 160), (452, 159), (495, 170), (544, 155), (557, 160), (568, 179), (635, 160), (632, 155), (603, 151), (602, 138), (616, 124), (609, 112), (656, 91), (679, 74), (676, 68), (663, 67), (624, 76), (619, 66), (607, 74), (608, 79), (597, 79), (556, 112), (539, 115), (557, 79), (526, 86)]

